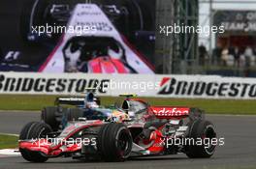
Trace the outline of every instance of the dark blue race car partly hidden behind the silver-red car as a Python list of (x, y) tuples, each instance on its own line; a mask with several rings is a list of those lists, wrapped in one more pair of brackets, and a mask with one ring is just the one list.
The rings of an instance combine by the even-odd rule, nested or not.
[[(87, 89), (85, 97), (61, 97), (55, 99), (55, 106), (43, 108), (41, 120), (53, 131), (62, 130), (70, 121), (78, 121), (80, 117), (87, 120), (107, 119), (112, 110), (100, 106), (101, 100), (94, 94), (95, 89)], [(64, 106), (64, 105), (69, 105)], [(71, 105), (75, 107), (70, 107)]]

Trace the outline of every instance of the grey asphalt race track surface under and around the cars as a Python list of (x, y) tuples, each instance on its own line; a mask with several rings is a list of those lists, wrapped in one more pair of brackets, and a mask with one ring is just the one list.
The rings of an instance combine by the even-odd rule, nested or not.
[[(0, 157), (1, 169), (43, 168), (104, 168), (104, 169), (159, 169), (159, 168), (256, 168), (256, 116), (207, 116), (215, 124), (219, 137), (225, 145), (218, 147), (208, 159), (189, 159), (186, 155), (167, 155), (130, 159), (125, 162), (82, 162), (71, 158), (49, 159), (46, 163), (29, 163), (20, 156)], [(0, 132), (18, 133), (30, 121), (38, 121), (40, 113), (0, 112)]]

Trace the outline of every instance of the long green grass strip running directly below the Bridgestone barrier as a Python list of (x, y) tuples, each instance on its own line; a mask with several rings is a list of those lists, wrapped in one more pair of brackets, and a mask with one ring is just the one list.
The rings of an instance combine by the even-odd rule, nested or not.
[[(54, 104), (56, 96), (1, 95), (0, 110), (41, 110)], [(200, 107), (214, 114), (256, 114), (256, 100), (239, 99), (159, 99), (144, 98), (152, 105)], [(102, 104), (113, 104), (116, 98), (102, 97)]]

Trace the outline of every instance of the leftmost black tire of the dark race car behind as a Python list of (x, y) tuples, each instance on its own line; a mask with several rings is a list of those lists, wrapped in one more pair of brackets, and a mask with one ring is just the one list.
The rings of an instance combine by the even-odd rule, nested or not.
[(45, 107), (41, 113), (41, 120), (48, 124), (54, 131), (59, 129), (61, 117), (62, 115), (58, 112), (58, 107)]

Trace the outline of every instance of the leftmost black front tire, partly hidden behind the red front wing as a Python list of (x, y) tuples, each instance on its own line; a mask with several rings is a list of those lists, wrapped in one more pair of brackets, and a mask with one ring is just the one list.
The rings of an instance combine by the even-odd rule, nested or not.
[[(52, 129), (48, 124), (30, 122), (21, 129), (19, 140), (45, 138), (48, 132), (52, 132)], [(47, 156), (42, 155), (39, 152), (31, 152), (24, 149), (19, 149), (19, 152), (24, 159), (30, 162), (46, 162), (48, 160)]]

